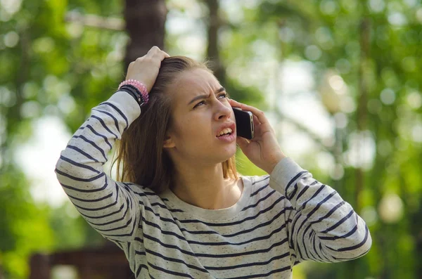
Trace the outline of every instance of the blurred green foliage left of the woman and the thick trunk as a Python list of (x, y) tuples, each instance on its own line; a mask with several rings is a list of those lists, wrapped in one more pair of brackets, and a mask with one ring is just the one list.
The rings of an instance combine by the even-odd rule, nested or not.
[(103, 241), (72, 205), (35, 203), (13, 155), (30, 138), (34, 120), (56, 116), (75, 131), (90, 108), (113, 93), (123, 77), (119, 53), (126, 35), (65, 19), (85, 13), (121, 18), (121, 11), (120, 1), (1, 1), (0, 265), (6, 278), (27, 278), (33, 252)]

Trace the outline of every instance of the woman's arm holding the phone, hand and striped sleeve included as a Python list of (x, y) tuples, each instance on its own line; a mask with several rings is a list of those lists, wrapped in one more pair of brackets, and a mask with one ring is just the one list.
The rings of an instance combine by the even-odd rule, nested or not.
[(235, 100), (230, 103), (254, 115), (255, 137), (251, 141), (238, 137), (238, 145), (251, 162), (270, 174), (270, 186), (283, 193), (294, 209), (286, 222), (296, 261), (345, 261), (366, 254), (371, 235), (362, 218), (333, 188), (283, 154), (264, 112)]

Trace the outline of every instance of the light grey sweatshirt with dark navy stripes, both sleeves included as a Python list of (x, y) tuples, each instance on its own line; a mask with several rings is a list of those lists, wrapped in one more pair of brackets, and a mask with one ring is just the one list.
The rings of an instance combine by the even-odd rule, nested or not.
[(241, 176), (243, 193), (225, 209), (113, 181), (103, 164), (140, 113), (132, 96), (114, 93), (91, 110), (56, 164), (73, 205), (123, 249), (136, 278), (291, 278), (301, 261), (347, 261), (369, 251), (362, 218), (289, 157), (270, 175)]

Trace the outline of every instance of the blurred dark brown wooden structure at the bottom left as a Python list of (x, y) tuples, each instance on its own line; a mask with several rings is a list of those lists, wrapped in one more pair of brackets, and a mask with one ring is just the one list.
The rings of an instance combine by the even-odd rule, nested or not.
[(134, 278), (122, 249), (116, 245), (105, 245), (53, 254), (33, 254), (30, 279), (51, 279), (51, 269), (60, 265), (74, 266), (78, 279)]

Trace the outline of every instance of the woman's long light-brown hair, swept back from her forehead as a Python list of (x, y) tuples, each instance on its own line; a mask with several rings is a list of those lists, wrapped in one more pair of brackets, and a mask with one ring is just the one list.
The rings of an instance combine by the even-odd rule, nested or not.
[[(185, 56), (162, 60), (148, 104), (117, 142), (113, 162), (117, 162), (117, 180), (146, 186), (155, 193), (161, 193), (174, 183), (174, 166), (163, 148), (166, 131), (172, 124), (172, 98), (168, 91), (181, 72), (197, 68), (212, 73), (205, 63)], [(235, 156), (222, 162), (222, 167), (224, 179), (238, 179)]]

